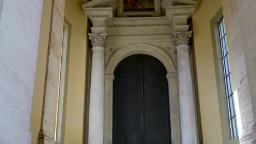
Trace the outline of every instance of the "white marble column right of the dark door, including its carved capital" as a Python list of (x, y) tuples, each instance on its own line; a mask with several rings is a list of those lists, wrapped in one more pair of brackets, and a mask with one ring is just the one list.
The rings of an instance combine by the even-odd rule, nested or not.
[(178, 58), (179, 107), (183, 144), (197, 144), (197, 125), (189, 61), (190, 32), (173, 32)]

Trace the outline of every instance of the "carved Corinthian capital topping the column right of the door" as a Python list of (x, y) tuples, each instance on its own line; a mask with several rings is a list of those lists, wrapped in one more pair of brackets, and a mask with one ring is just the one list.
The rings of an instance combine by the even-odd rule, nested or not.
[(172, 42), (174, 45), (178, 46), (181, 44), (187, 44), (189, 43), (189, 38), (191, 37), (192, 31), (189, 32), (173, 32), (172, 34)]

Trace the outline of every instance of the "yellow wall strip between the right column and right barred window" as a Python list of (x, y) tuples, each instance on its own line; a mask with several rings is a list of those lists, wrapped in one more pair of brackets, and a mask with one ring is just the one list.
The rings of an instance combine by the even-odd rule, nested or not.
[(223, 143), (212, 46), (215, 41), (210, 27), (210, 20), (221, 7), (221, 0), (202, 0), (192, 17), (202, 140), (207, 144)]

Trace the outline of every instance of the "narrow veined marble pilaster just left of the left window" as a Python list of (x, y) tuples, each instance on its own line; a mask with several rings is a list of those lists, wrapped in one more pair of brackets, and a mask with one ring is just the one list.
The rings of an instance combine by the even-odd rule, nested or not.
[(62, 11), (64, 1), (53, 0), (51, 8), (51, 21), (49, 31), (48, 53), (44, 81), (43, 105), (38, 135), (38, 143), (55, 143), (55, 110), (57, 87), (59, 84), (59, 66), (61, 55), (61, 34), (63, 26)]

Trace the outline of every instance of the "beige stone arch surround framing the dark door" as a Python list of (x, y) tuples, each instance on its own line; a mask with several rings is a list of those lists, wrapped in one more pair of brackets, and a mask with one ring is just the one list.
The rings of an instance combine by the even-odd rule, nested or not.
[(169, 103), (170, 103), (170, 122), (172, 143), (181, 143), (181, 128), (179, 124), (179, 104), (177, 93), (177, 76), (172, 57), (161, 47), (149, 44), (132, 44), (125, 46), (110, 56), (105, 71), (105, 96), (104, 96), (104, 143), (112, 144), (112, 118), (113, 118), (113, 80), (114, 70), (118, 63), (124, 58), (145, 54), (157, 58), (164, 64), (168, 79)]

